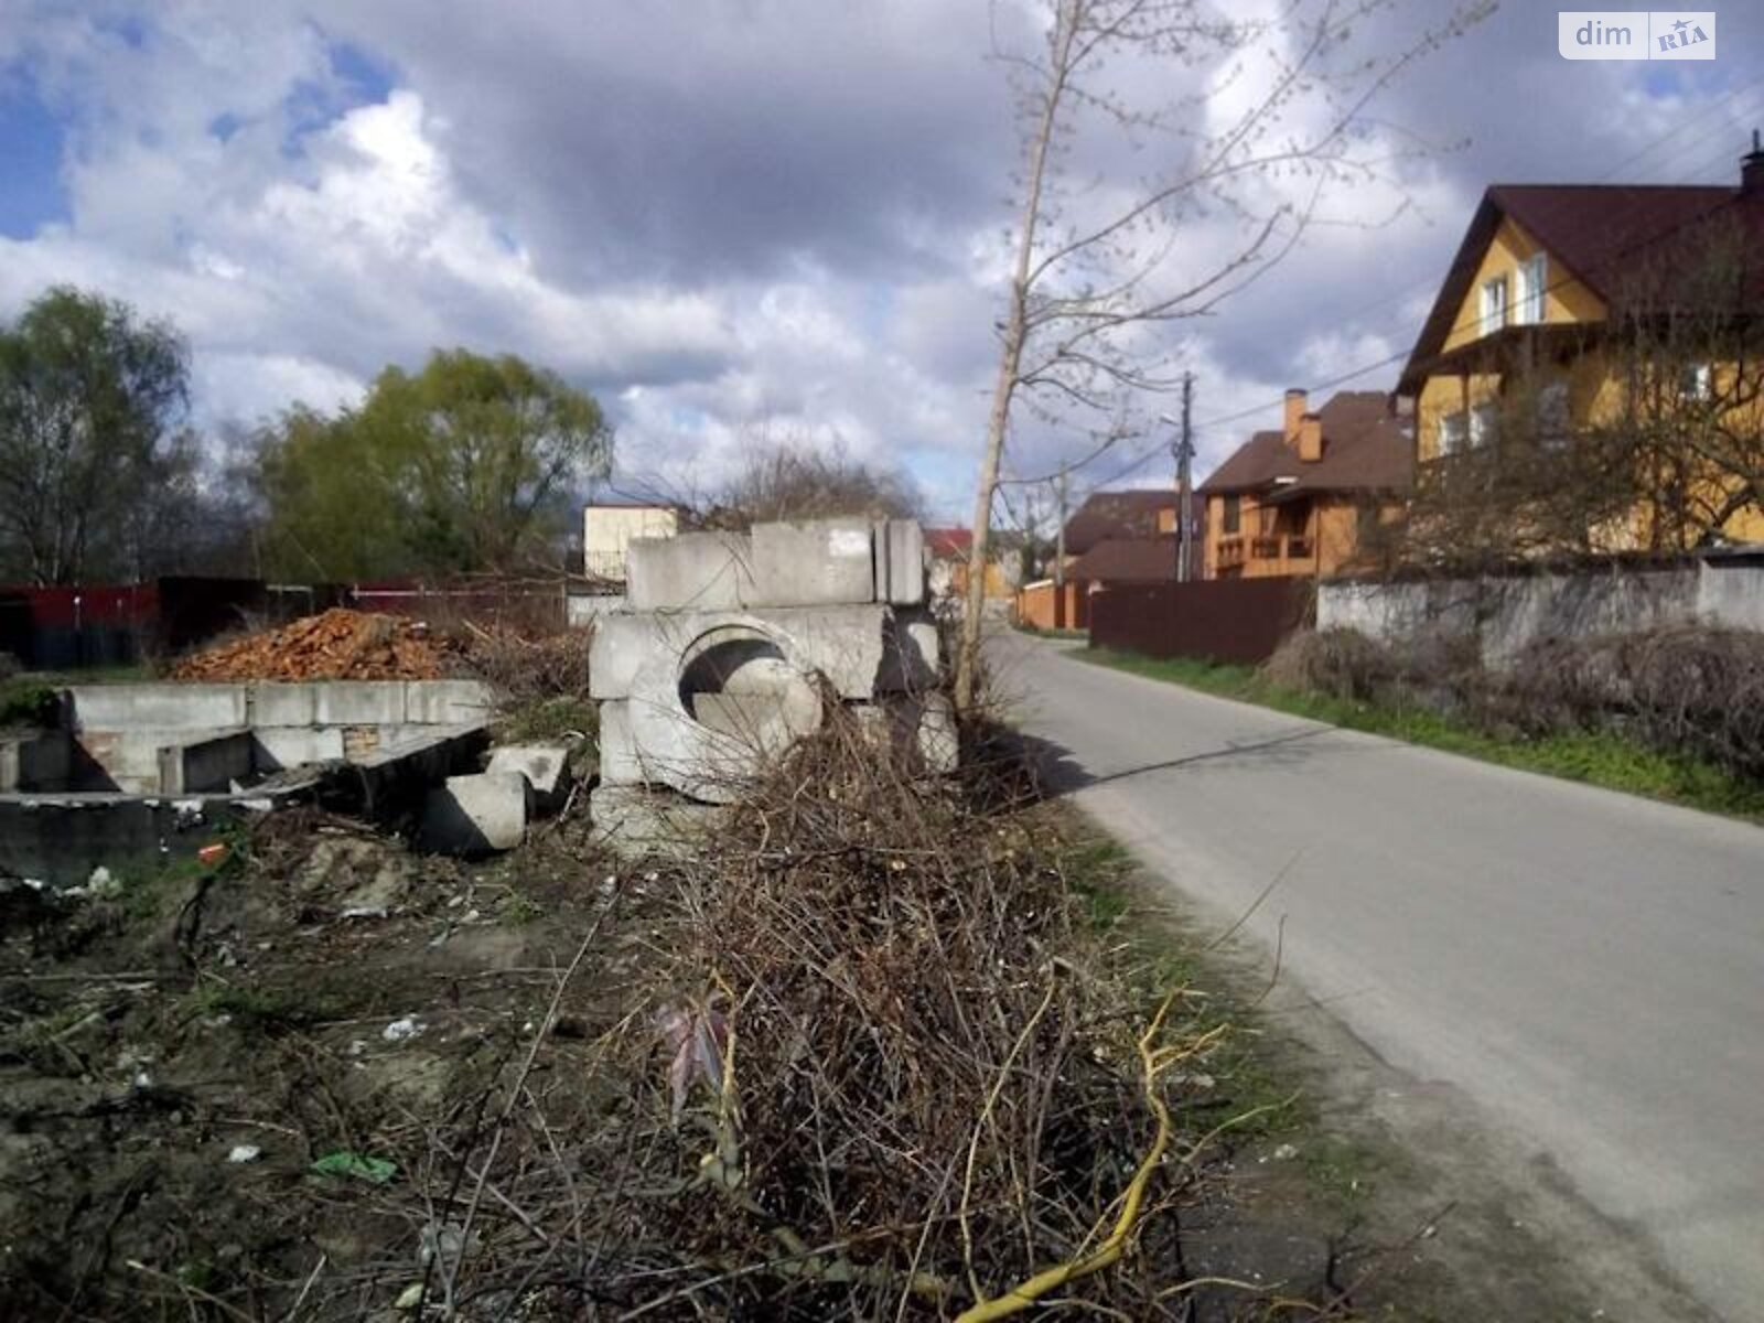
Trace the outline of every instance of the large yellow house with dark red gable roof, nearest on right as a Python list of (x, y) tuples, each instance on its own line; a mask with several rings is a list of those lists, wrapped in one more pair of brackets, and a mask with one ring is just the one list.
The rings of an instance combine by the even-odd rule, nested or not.
[[(1738, 321), (1764, 310), (1760, 242), (1764, 152), (1757, 146), (1745, 157), (1738, 189), (1491, 187), (1397, 385), (1415, 415), (1422, 475), (1461, 453), (1487, 452), (1498, 460), (1503, 422), (1515, 416), (1545, 446), (1633, 420), (1639, 358), (1658, 353), (1662, 369), (1669, 362), (1648, 339), (1649, 328), (1685, 312), (1683, 289), (1713, 250), (1730, 249), (1743, 263), (1734, 286), (1746, 291)], [(1711, 383), (1727, 381), (1736, 367), (1720, 353), (1711, 349), (1706, 362), (1672, 360), (1672, 392), (1706, 397)], [(1711, 489), (1730, 496), (1743, 487), (1709, 473), (1693, 482), (1704, 497)], [(1722, 512), (1704, 536), (1764, 540), (1764, 501), (1739, 490), (1738, 501), (1704, 505)], [(1667, 549), (1683, 527), (1667, 533), (1660, 510), (1637, 505), (1588, 529), (1588, 543), (1612, 552)]]

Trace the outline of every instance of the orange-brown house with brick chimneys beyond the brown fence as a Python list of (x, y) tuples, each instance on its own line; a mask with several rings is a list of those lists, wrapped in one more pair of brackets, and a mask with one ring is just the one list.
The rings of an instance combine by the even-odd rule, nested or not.
[(1408, 420), (1383, 392), (1344, 390), (1316, 413), (1305, 392), (1286, 392), (1281, 430), (1251, 436), (1200, 487), (1207, 579), (1362, 568), (1369, 531), (1401, 508), (1413, 466)]

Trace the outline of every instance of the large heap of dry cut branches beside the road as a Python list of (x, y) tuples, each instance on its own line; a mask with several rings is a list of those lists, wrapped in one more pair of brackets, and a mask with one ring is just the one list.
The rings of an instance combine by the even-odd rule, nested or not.
[(1051, 822), (990, 811), (1000, 785), (903, 776), (836, 718), (707, 852), (651, 873), (630, 1011), (570, 1081), (596, 1115), (522, 1104), (492, 1140), (492, 1187), (549, 1245), (508, 1224), (427, 1298), (1185, 1316), (1171, 1210), (1205, 1136), (1178, 1127), (1177, 1067), (1217, 1032), (1094, 949)]

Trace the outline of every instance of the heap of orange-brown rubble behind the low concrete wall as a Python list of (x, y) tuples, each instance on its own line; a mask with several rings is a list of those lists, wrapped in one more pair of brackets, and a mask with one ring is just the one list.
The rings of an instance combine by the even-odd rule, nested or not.
[(443, 679), (450, 649), (400, 616), (340, 607), (183, 658), (173, 679)]

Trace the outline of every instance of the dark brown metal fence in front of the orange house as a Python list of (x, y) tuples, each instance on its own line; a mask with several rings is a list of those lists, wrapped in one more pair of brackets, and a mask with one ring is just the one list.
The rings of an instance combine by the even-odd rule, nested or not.
[(1311, 623), (1314, 600), (1314, 580), (1288, 577), (1104, 587), (1090, 596), (1090, 646), (1258, 665)]

